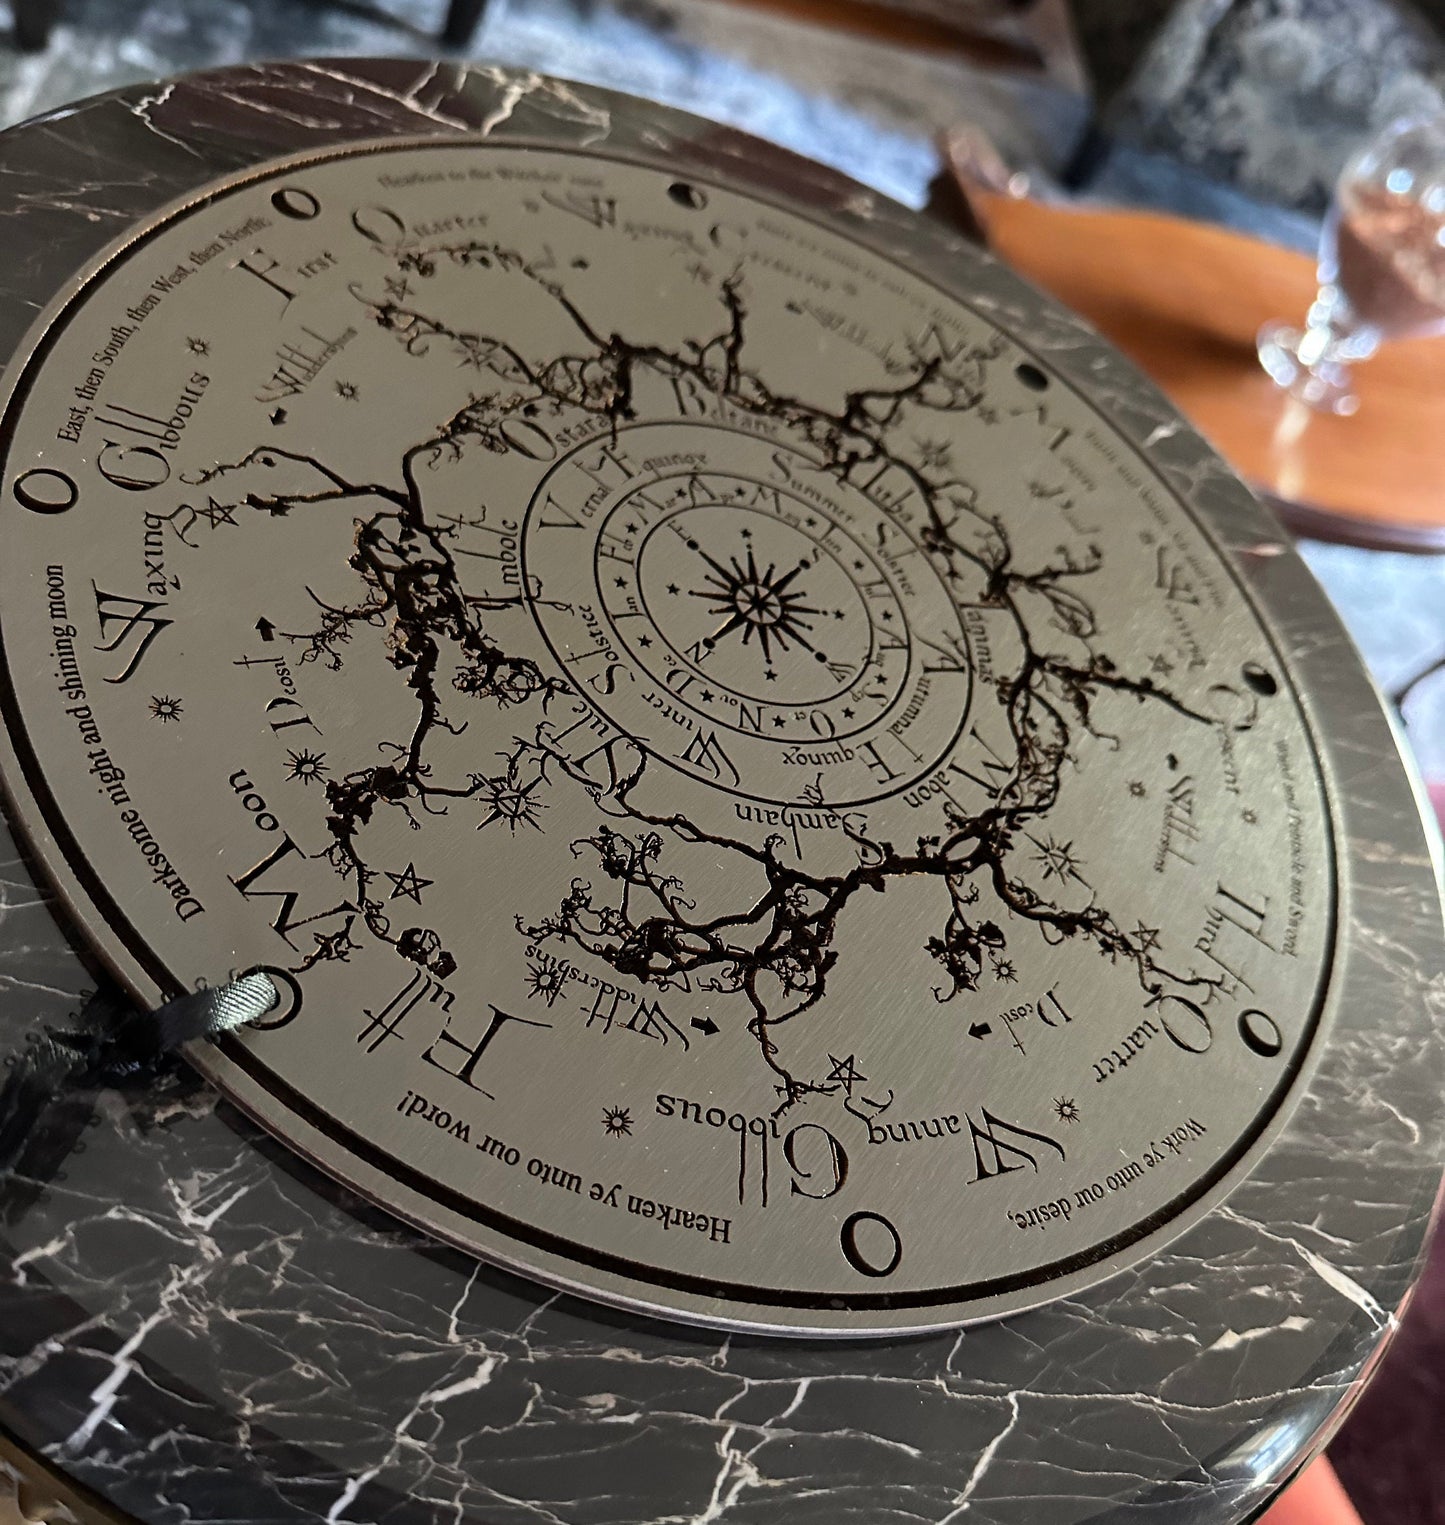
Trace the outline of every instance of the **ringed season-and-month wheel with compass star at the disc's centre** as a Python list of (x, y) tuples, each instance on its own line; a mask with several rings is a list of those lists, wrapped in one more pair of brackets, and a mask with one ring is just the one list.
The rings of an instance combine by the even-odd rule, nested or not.
[(594, 669), (584, 698), (716, 788), (787, 805), (800, 767), (829, 767), (835, 804), (876, 801), (968, 723), (963, 616), (918, 540), (777, 439), (672, 422), (575, 450), (533, 493), (521, 564), (553, 654)]

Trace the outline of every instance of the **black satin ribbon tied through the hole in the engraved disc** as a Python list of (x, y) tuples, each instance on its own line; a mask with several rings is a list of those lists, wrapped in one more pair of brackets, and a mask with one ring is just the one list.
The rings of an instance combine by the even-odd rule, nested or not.
[[(0, 1177), (23, 1176), (43, 1190), (90, 1121), (98, 1092), (154, 1084), (183, 1045), (256, 1022), (277, 999), (271, 981), (256, 971), (151, 1011), (116, 988), (96, 991), (75, 1028), (46, 1028), (6, 1061)], [(0, 1215), (12, 1220), (17, 1206), (14, 1193), (5, 1193)]]

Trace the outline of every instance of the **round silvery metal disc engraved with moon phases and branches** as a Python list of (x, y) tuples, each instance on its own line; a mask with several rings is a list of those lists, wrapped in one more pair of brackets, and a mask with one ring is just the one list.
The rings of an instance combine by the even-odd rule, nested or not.
[(1290, 673), (960, 297), (722, 186), (387, 145), (157, 218), (11, 375), (20, 816), (142, 994), (274, 971), (198, 1060), (376, 1200), (924, 1328), (1149, 1254), (1288, 1110)]

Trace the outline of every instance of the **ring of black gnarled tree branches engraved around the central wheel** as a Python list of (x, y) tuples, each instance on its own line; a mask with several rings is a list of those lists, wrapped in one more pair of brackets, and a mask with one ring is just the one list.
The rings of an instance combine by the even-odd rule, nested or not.
[[(1081, 592), (1101, 566), (1096, 546), (1084, 557), (1061, 547), (1050, 564), (1020, 566), (1004, 523), (979, 506), (976, 490), (950, 470), (947, 450), (919, 445), (915, 438), (919, 418), (985, 412), (988, 366), (1001, 355), (1001, 340), (983, 348), (950, 346), (930, 331), (886, 364), (887, 384), (849, 392), (837, 410), (828, 410), (774, 390), (748, 369), (748, 310), (736, 273), (721, 284), (721, 326), (709, 337), (662, 348), (604, 334), (549, 271), (498, 244), (409, 250), (396, 265), (384, 296), (354, 291), (370, 322), (393, 334), (407, 355), (445, 354), (476, 371), (488, 389), (479, 387), (427, 439), (405, 450), (399, 482), (354, 482), (314, 456), (273, 447), (197, 479), (197, 485), (223, 494), (235, 483), (241, 490), (236, 506), (274, 515), (366, 502), (355, 518), (349, 558), (361, 596), (344, 607), (317, 599), (316, 627), (284, 634), (302, 648), (302, 662), (340, 668), (358, 631), (378, 631), (392, 666), (415, 694), (412, 732), (383, 744), (387, 761), (326, 782), (326, 856), (349, 884), (351, 901), (343, 909), (372, 936), (434, 973), (456, 967), (434, 933), (412, 929), (395, 935), (383, 903), (370, 894), (375, 872), (361, 839), (378, 810), (401, 810), (419, 828), (421, 814), (445, 814), (469, 802), (483, 813), (482, 825), (517, 830), (538, 824), (541, 793), (567, 778), (587, 790), (604, 819), (573, 843), (584, 872), (556, 912), (533, 926), (520, 923), (518, 930), (540, 942), (570, 944), (643, 984), (668, 988), (686, 982), (741, 994), (751, 1013), (750, 1031), (776, 1074), (782, 1107), (809, 1092), (837, 1089), (793, 1075), (780, 1061), (774, 1034), (823, 999), (838, 959), (844, 909), (864, 894), (886, 892), (895, 880), (925, 877), (937, 880), (944, 892), (947, 913), (925, 944), (944, 976), (939, 1000), (976, 991), (985, 964), (1006, 947), (1003, 929), (977, 910), (980, 886), (1046, 939), (1082, 938), (1102, 956), (1123, 959), (1151, 997), (1166, 984), (1210, 984), (1193, 973), (1160, 968), (1151, 947), (1125, 932), (1091, 891), (1085, 903), (1065, 904), (1062, 894), (1049, 898), (1027, 883), (1020, 866), (1027, 849), (1040, 846), (1030, 828), (1041, 827), (1058, 799), (1075, 737), (1082, 732), (1117, 746), (1094, 726), (1102, 691), (1163, 705), (1204, 726), (1219, 721), (1190, 709), (1149, 676), (1119, 669), (1097, 650), (1097, 621)], [(442, 265), (521, 281), (566, 319), (575, 349), (529, 357), (503, 339), (451, 326), (424, 311), (410, 299), (412, 279), (425, 284)], [(636, 416), (645, 383), (671, 387), (683, 412), (690, 403), (704, 403), (770, 418), (809, 445), (840, 480), (887, 467), (912, 485), (924, 508), (924, 551), (937, 573), (956, 592), (982, 584), (985, 602), (1012, 619), (1024, 653), (1018, 669), (997, 680), (1014, 755), (1000, 769), (1004, 776), (992, 804), (974, 814), (948, 805), (944, 831), (912, 843), (875, 837), (861, 811), (844, 814), (843, 830), (857, 862), (846, 871), (815, 874), (783, 862), (782, 837), (758, 846), (706, 831), (683, 814), (651, 813), (637, 798), (648, 756), (625, 737), (599, 749), (602, 764), (581, 769), (573, 762), (559, 744), (552, 714), (572, 697), (572, 688), (529, 657), (503, 650), (489, 633), (488, 616), (520, 607), (529, 595), (521, 589), (506, 596), (466, 590), (460, 558), (476, 554), (466, 540), (485, 526), (485, 511), (477, 520), (433, 520), (424, 500), (424, 473), (471, 451), (515, 450), (526, 430), (544, 429), (569, 413), (591, 415), (616, 432)], [(533, 601), (540, 596), (541, 590), (532, 595)], [(465, 729), (465, 720), (457, 718), (462, 711), (448, 709), (453, 702), (444, 700), (448, 686), (463, 703), (526, 712), (521, 729), (529, 734), (515, 738), (495, 772), (469, 772), (451, 781), (434, 776), (428, 738)], [(826, 808), (820, 784), (805, 799)], [(686, 883), (668, 871), (674, 845), (706, 845), (739, 866), (750, 865), (748, 903), (700, 917)], [(1053, 866), (1061, 889), (1070, 878), (1088, 889), (1067, 863)], [(601, 875), (605, 889), (594, 888), (588, 872)], [(1044, 877), (1047, 883), (1047, 865)], [(348, 920), (346, 942), (319, 939), (306, 962), (344, 956), (348, 946), (355, 946), (351, 930)]]

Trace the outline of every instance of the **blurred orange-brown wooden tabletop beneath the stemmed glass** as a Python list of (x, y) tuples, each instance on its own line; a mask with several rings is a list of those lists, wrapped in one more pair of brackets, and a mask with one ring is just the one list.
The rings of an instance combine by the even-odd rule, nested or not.
[(1204, 223), (1009, 195), (954, 168), (989, 247), (1148, 371), (1293, 528), (1445, 549), (1445, 340), (1386, 345), (1358, 368), (1358, 413), (1314, 413), (1254, 354), (1261, 323), (1314, 300), (1311, 259)]

